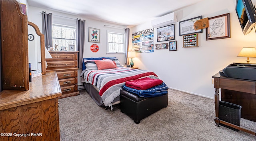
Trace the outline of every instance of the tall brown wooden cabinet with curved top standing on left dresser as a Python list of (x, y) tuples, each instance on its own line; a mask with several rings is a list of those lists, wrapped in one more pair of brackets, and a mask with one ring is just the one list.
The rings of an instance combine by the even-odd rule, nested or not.
[(2, 86), (28, 90), (28, 17), (16, 0), (0, 0)]

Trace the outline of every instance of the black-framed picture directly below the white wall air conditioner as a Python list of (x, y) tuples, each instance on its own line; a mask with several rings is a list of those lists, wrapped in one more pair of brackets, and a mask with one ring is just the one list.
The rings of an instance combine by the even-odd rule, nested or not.
[(160, 27), (157, 30), (157, 41), (168, 41), (175, 39), (174, 24)]

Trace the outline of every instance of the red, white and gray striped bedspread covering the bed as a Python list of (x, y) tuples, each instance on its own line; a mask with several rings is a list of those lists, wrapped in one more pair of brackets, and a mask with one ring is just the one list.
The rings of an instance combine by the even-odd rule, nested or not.
[(90, 83), (99, 89), (100, 97), (105, 106), (110, 105), (120, 95), (120, 90), (126, 81), (145, 77), (159, 79), (154, 72), (126, 67), (88, 70), (82, 72), (81, 77), (84, 78), (84, 82)]

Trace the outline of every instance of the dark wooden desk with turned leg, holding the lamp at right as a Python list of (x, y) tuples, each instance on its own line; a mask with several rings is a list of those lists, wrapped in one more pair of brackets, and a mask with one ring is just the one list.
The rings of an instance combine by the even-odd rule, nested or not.
[(219, 73), (212, 76), (212, 78), (214, 78), (215, 88), (215, 125), (219, 126), (219, 124), (222, 123), (252, 135), (256, 135), (253, 131), (222, 121), (219, 118), (219, 89), (221, 89), (222, 100), (242, 106), (241, 117), (256, 121), (256, 81), (228, 78), (220, 76)]

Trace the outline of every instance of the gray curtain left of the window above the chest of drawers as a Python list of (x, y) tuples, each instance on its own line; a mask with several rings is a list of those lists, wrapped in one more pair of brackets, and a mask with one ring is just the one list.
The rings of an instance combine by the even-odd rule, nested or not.
[(52, 13), (46, 14), (42, 12), (42, 27), (44, 34), (44, 43), (47, 48), (48, 45), (52, 46)]

